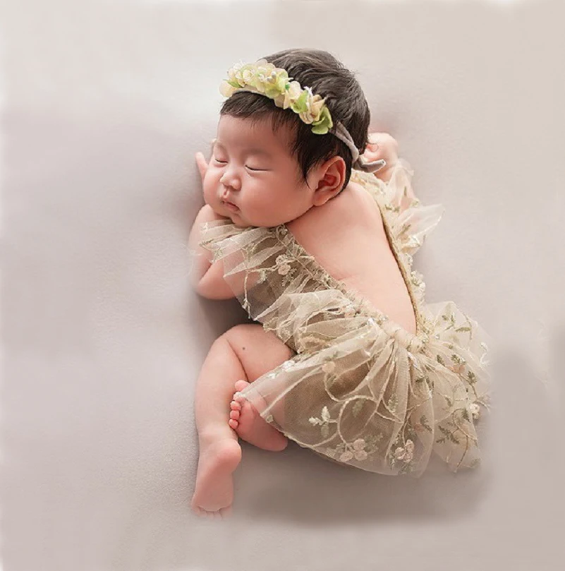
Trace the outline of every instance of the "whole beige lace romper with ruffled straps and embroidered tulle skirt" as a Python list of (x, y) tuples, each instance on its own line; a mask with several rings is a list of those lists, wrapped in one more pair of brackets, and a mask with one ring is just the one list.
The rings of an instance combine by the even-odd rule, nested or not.
[(388, 183), (357, 170), (351, 180), (381, 211), (415, 335), (329, 275), (285, 224), (206, 222), (200, 246), (222, 260), (224, 280), (250, 318), (293, 350), (241, 392), (262, 418), (325, 459), (419, 477), (432, 451), (451, 471), (480, 462), (475, 421), (490, 401), (490, 338), (452, 301), (425, 303), (412, 256), (444, 208), (418, 199), (401, 208), (412, 175), (401, 159)]

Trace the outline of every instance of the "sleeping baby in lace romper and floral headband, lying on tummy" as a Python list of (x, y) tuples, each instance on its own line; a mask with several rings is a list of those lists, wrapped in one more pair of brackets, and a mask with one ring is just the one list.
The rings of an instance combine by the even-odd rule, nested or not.
[(192, 280), (256, 323), (216, 339), (198, 377), (194, 512), (231, 512), (240, 438), (377, 474), (419, 477), (432, 452), (478, 466), (487, 334), (452, 301), (425, 303), (412, 257), (444, 208), (415, 198), (394, 138), (369, 133), (353, 73), (288, 49), (220, 89), (212, 156), (196, 155)]

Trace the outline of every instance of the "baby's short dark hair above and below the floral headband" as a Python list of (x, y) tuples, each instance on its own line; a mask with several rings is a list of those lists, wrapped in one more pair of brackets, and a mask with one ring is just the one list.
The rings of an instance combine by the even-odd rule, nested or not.
[[(341, 121), (360, 154), (363, 154), (367, 145), (370, 111), (354, 73), (332, 54), (321, 49), (285, 49), (262, 59), (277, 68), (285, 69), (288, 76), (298, 81), (302, 88), (309, 87), (314, 95), (320, 95), (332, 114), (334, 126), (337, 121)], [(307, 181), (308, 173), (313, 167), (339, 156), (346, 164), (344, 186), (339, 191), (347, 186), (353, 162), (351, 150), (332, 133), (312, 133), (312, 126), (301, 121), (292, 109), (277, 107), (265, 95), (242, 91), (234, 93), (222, 104), (220, 115), (250, 118), (253, 122), (263, 121), (270, 116), (275, 133), (281, 126), (290, 129), (290, 152), (297, 158), (303, 181)]]

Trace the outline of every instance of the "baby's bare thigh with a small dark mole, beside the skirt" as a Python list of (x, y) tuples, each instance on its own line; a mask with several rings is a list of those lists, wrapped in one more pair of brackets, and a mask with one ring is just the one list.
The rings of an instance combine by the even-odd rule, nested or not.
[(259, 323), (235, 325), (224, 336), (241, 361), (250, 383), (294, 355), (288, 345), (272, 331), (265, 331)]

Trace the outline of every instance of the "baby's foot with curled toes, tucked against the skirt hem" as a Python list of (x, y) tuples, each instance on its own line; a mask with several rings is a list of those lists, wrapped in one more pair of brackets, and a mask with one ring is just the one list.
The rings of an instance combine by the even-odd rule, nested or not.
[(229, 426), (238, 433), (239, 438), (257, 448), (272, 452), (284, 450), (288, 445), (288, 438), (265, 421), (247, 399), (238, 395), (238, 391), (248, 385), (246, 380), (236, 382), (236, 392), (230, 403)]

